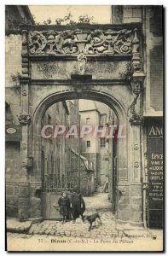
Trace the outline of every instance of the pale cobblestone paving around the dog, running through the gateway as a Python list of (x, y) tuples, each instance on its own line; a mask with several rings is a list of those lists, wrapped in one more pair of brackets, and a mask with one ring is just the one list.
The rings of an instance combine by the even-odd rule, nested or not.
[[(96, 220), (93, 224), (93, 229), (89, 231), (90, 224), (86, 221), (82, 222), (81, 218), (77, 218), (76, 223), (72, 224), (72, 220), (66, 224), (61, 224), (60, 221), (44, 220), (40, 224), (32, 224), (31, 229), (23, 237), (31, 237), (32, 235), (46, 236), (72, 236), (85, 238), (115, 238), (121, 237), (122, 232), (116, 230), (115, 218), (111, 210), (111, 203), (107, 199), (107, 194), (100, 193), (90, 197), (84, 197), (86, 211), (84, 215), (89, 215), (97, 210), (100, 211), (101, 224)], [(9, 236), (17, 236), (9, 233)], [(19, 235), (18, 235), (19, 236)]]

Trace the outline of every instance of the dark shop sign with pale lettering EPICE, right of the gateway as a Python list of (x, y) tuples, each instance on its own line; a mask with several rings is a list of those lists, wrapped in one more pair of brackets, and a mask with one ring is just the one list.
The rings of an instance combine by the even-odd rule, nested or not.
[(163, 228), (163, 125), (148, 123), (148, 224)]

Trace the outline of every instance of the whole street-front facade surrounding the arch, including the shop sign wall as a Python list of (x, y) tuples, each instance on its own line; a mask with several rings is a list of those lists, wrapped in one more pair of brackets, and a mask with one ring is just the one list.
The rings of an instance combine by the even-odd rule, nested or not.
[(43, 114), (57, 102), (88, 99), (112, 108), (125, 130), (109, 175), (117, 222), (163, 226), (162, 12), (113, 6), (108, 25), (7, 29), (6, 157), (14, 160), (6, 165), (6, 195), (20, 219), (45, 218)]

